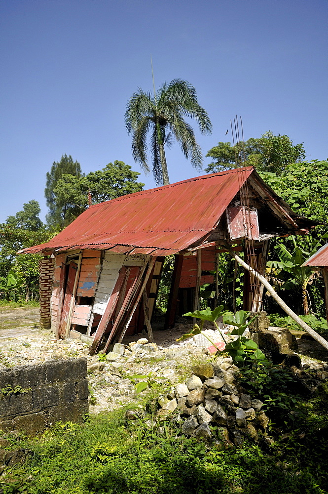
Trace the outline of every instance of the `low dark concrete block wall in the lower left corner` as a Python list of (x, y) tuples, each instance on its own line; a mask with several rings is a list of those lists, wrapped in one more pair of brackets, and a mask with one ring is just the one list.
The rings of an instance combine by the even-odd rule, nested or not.
[(58, 420), (82, 422), (89, 412), (86, 358), (55, 360), (0, 371), (0, 390), (10, 385), (25, 393), (0, 394), (0, 430), (44, 431)]

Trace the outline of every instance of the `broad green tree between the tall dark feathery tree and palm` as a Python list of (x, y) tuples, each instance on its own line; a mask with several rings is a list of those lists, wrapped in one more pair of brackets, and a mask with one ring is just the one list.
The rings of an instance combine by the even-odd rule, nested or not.
[[(139, 175), (131, 166), (117, 160), (102, 170), (91, 171), (85, 176), (63, 175), (54, 189), (55, 205), (58, 209), (66, 205), (70, 211), (76, 211), (77, 216), (88, 206), (89, 190), (92, 204), (139, 192), (145, 185), (137, 182)], [(71, 220), (73, 219), (72, 213)]]

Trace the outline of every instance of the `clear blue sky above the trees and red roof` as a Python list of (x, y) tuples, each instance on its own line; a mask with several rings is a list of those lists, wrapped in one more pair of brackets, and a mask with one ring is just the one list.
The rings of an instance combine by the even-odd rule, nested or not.
[[(44, 219), (45, 174), (64, 153), (86, 173), (140, 171), (123, 117), (152, 88), (150, 55), (157, 86), (195, 86), (213, 123), (196, 132), (204, 156), (238, 114), (245, 138), (271, 129), (327, 159), (327, 26), (327, 0), (2, 0), (0, 221), (31, 199)], [(177, 144), (167, 161), (171, 182), (203, 174)]]

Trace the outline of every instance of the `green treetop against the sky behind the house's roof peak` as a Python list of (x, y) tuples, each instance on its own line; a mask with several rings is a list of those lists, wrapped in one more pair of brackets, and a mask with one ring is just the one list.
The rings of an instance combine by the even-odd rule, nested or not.
[(230, 142), (219, 142), (206, 155), (215, 160), (205, 168), (206, 173), (235, 168), (239, 155), (247, 166), (252, 165), (258, 171), (273, 172), (279, 176), (288, 165), (304, 160), (305, 151), (302, 143), (293, 146), (288, 135), (274, 135), (269, 130), (258, 139), (251, 138), (235, 146), (231, 146)]

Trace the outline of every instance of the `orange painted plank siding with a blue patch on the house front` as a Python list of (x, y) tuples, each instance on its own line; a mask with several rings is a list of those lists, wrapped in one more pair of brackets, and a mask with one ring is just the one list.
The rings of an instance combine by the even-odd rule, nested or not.
[(76, 296), (94, 297), (101, 270), (101, 251), (83, 250)]

